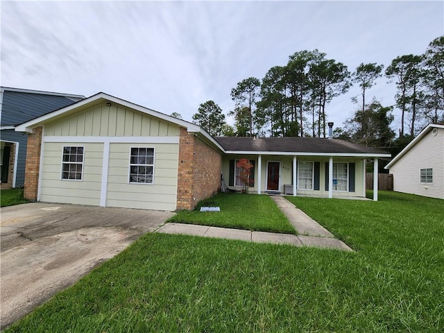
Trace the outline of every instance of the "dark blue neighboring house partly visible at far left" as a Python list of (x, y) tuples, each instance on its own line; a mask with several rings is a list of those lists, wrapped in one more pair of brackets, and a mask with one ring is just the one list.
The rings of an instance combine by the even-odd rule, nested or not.
[(24, 185), (26, 141), (15, 126), (42, 114), (76, 103), (85, 96), (0, 87), (0, 174), (1, 188)]

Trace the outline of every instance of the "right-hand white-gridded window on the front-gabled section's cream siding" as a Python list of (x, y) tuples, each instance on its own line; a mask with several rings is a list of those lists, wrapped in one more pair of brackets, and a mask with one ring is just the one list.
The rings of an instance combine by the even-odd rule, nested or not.
[(129, 182), (153, 184), (154, 148), (140, 148), (140, 147), (131, 148)]

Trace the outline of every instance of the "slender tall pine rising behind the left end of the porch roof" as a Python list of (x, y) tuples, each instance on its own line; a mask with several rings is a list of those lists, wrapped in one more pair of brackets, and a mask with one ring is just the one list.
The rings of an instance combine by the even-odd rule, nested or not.
[[(264, 119), (256, 117), (256, 103), (260, 97), (261, 83), (257, 78), (246, 78), (237, 83), (237, 86), (231, 89), (231, 98), (236, 103), (236, 108), (230, 114), (234, 114), (235, 118), (245, 117), (244, 108), (248, 108), (248, 131), (247, 135), (252, 137), (255, 130), (260, 130), (264, 126)], [(237, 112), (242, 111), (241, 114)], [(244, 121), (242, 121), (244, 125)]]

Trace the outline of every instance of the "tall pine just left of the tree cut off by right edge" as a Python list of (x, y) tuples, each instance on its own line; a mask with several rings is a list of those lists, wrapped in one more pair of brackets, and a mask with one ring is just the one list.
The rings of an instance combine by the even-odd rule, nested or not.
[(416, 111), (420, 103), (420, 85), (424, 77), (422, 56), (400, 56), (392, 60), (386, 69), (386, 76), (396, 80), (398, 92), (395, 96), (396, 106), (401, 110), (400, 137), (404, 135), (406, 112), (411, 112), (410, 135), (415, 131)]

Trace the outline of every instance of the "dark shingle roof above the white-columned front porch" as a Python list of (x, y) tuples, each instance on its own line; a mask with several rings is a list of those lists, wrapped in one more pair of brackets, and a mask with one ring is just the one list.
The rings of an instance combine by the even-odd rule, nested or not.
[(225, 151), (286, 153), (368, 153), (387, 154), (375, 148), (352, 144), (341, 139), (320, 137), (216, 137)]

